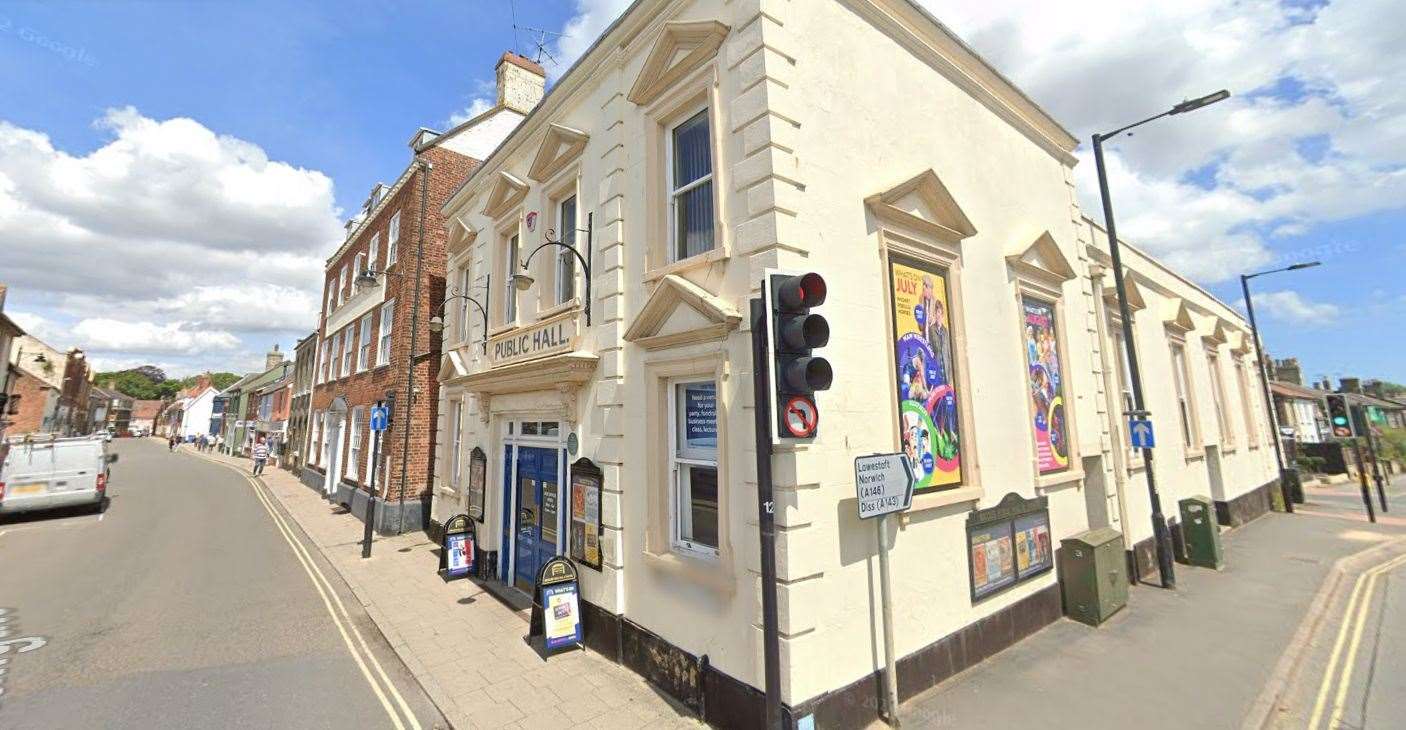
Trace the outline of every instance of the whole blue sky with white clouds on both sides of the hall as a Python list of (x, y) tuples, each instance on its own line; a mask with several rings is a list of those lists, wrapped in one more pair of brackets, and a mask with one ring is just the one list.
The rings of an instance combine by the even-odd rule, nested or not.
[[(516, 17), (569, 34), (555, 75), (626, 4), (520, 0)], [(1227, 302), (1240, 271), (1322, 260), (1256, 280), (1272, 353), (1310, 377), (1406, 383), (1400, 6), (924, 4), (1081, 139), (1230, 89), (1111, 143), (1119, 231)], [(406, 165), (416, 128), (492, 94), (512, 23), (508, 0), (0, 6), (7, 311), (108, 367), (291, 349), (339, 218)], [(73, 176), (93, 194), (63, 200), (55, 180)], [(1092, 160), (1076, 176), (1101, 219)], [(6, 177), (27, 217), (4, 218)]]

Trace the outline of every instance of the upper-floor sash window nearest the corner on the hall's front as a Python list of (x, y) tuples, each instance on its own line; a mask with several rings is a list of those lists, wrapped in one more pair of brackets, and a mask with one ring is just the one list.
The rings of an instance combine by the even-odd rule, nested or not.
[(713, 142), (707, 110), (669, 131), (669, 260), (713, 250)]

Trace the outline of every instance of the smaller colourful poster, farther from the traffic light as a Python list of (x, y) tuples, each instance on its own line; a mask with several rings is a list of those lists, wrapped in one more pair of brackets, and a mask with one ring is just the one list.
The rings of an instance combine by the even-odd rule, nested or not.
[(1035, 457), (1040, 474), (1049, 474), (1069, 468), (1069, 425), (1054, 305), (1031, 298), (1022, 298), (1021, 302), (1025, 309), (1025, 361), (1031, 369), (1031, 405), (1035, 414)]

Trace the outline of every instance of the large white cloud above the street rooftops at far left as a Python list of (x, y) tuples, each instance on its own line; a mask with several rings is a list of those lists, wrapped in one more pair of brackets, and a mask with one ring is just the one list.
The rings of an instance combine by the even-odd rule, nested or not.
[[(342, 239), (332, 180), (190, 118), (131, 107), (72, 155), (0, 121), (0, 273), (21, 326), (97, 363), (263, 361), (242, 339), (311, 331)], [(229, 360), (229, 361), (226, 361)]]

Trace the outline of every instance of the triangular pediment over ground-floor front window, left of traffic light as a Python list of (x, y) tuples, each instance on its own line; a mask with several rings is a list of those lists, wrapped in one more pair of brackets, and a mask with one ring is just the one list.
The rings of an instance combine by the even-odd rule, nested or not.
[(624, 339), (648, 350), (720, 340), (741, 315), (703, 287), (678, 274), (659, 280)]

